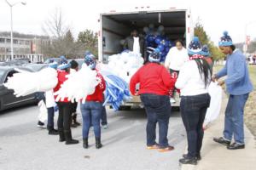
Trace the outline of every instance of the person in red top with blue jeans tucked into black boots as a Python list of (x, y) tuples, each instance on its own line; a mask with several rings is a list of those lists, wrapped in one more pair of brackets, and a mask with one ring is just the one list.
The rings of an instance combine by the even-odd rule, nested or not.
[[(84, 57), (84, 62), (90, 67), (91, 70), (96, 71), (96, 60), (92, 54), (86, 54)], [(101, 79), (101, 82), (96, 86), (94, 94), (88, 95), (85, 99), (85, 103), (81, 104), (81, 112), (83, 117), (83, 147), (88, 148), (88, 134), (90, 126), (93, 126), (95, 139), (96, 139), (96, 149), (102, 148), (101, 143), (101, 125), (100, 120), (102, 116), (102, 102), (103, 102), (103, 92), (106, 88), (105, 80), (102, 75), (97, 71), (97, 77)]]

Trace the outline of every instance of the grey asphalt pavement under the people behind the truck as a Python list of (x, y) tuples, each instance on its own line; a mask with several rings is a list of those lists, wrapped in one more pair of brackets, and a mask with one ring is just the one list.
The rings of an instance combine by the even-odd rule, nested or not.
[[(117, 112), (108, 109), (108, 129), (102, 129), (100, 150), (95, 148), (93, 132), (90, 132), (90, 148), (82, 147), (81, 126), (72, 129), (79, 144), (66, 145), (58, 141), (58, 136), (38, 128), (37, 122), (38, 107), (33, 105), (0, 114), (1, 170), (177, 170), (186, 145), (177, 111), (172, 111), (168, 134), (169, 144), (175, 150), (166, 153), (146, 149), (143, 109)], [(82, 122), (80, 114), (79, 122)]]

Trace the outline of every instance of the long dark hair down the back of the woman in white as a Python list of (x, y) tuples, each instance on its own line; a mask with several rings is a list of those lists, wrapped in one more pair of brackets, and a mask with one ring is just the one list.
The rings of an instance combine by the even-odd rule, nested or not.
[(201, 79), (205, 82), (205, 88), (211, 82), (212, 70), (206, 59), (195, 59)]

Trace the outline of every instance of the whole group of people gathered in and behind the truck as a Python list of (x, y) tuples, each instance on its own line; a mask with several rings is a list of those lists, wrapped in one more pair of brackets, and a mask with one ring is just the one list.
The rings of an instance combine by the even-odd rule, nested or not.
[[(125, 45), (137, 53), (142, 53), (140, 44), (143, 42), (137, 37), (137, 31), (126, 39)], [(136, 44), (133, 44), (136, 43)], [(142, 45), (141, 45), (142, 46)], [(243, 134), (243, 110), (252, 92), (253, 85), (249, 80), (247, 61), (241, 52), (233, 45), (231, 37), (224, 32), (218, 43), (220, 50), (227, 55), (224, 68), (217, 74), (212, 74), (212, 59), (206, 45), (202, 46), (198, 37), (189, 43), (189, 48), (183, 47), (183, 41), (177, 40), (166, 56), (164, 64), (160, 63), (160, 51), (154, 50), (145, 59), (145, 64), (131, 77), (130, 91), (133, 95), (140, 95), (147, 114), (146, 144), (148, 150), (166, 152), (174, 150), (168, 143), (169, 118), (172, 113), (170, 97), (174, 89), (180, 93), (180, 111), (183, 125), (187, 133), (188, 153), (179, 160), (183, 164), (196, 164), (201, 160), (201, 146), (204, 136), (203, 122), (210, 105), (211, 96), (208, 93), (209, 84), (218, 82), (226, 84), (229, 93), (229, 102), (225, 111), (223, 137), (214, 138), (215, 142), (227, 145), (227, 149), (236, 150), (245, 147)], [(145, 57), (145, 56), (143, 56)], [(102, 127), (107, 128), (107, 114), (104, 103), (104, 90), (106, 84), (100, 71), (96, 70), (96, 59), (92, 54), (85, 54), (84, 63), (91, 70), (97, 72), (101, 82), (96, 86), (94, 94), (88, 95), (84, 104), (80, 104), (82, 114), (83, 147), (87, 149), (90, 127), (96, 139), (96, 148), (102, 147)], [(61, 65), (49, 65), (57, 70), (58, 83), (56, 87), (46, 92), (46, 106), (48, 108), (49, 134), (59, 134), (59, 141), (66, 144), (78, 144), (79, 140), (72, 138), (71, 126), (80, 125), (77, 122), (77, 103), (70, 102), (67, 98), (56, 102), (59, 109), (57, 127), (54, 128), (55, 95), (61, 84), (67, 81), (67, 75), (78, 70), (75, 61), (67, 62), (62, 59)], [(225, 80), (220, 77), (227, 76)], [(139, 89), (137, 90), (137, 84)], [(159, 139), (156, 140), (156, 126), (159, 126)], [(235, 142), (231, 144), (232, 137)]]

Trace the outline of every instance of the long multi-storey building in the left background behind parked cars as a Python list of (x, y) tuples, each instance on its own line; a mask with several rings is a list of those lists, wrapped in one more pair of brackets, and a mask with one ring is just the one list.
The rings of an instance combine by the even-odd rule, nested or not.
[[(0, 61), (11, 60), (9, 32), (0, 32)], [(49, 37), (14, 33), (14, 59), (29, 59), (32, 63), (44, 62), (44, 47)]]

